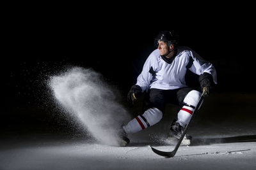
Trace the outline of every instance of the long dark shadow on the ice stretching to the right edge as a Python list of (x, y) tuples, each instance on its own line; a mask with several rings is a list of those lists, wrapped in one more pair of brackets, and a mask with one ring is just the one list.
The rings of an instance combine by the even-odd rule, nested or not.
[(191, 141), (190, 146), (199, 145), (211, 145), (215, 143), (239, 143), (239, 142), (255, 142), (256, 135), (246, 135), (246, 136), (233, 136), (226, 138), (194, 138)]

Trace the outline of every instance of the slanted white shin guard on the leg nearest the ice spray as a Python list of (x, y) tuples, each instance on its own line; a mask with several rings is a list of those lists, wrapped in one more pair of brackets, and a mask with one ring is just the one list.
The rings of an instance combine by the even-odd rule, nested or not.
[(143, 115), (132, 119), (123, 128), (127, 134), (132, 134), (141, 131), (142, 129), (146, 129), (148, 126), (156, 124), (161, 120), (162, 117), (163, 113), (161, 110), (157, 108), (149, 108), (143, 113)]

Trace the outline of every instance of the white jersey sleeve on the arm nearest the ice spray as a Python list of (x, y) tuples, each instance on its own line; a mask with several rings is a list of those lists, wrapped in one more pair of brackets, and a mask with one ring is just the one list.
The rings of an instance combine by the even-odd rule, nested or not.
[(154, 55), (150, 54), (145, 61), (145, 64), (143, 66), (143, 69), (140, 73), (140, 75), (137, 78), (137, 83), (136, 85), (139, 85), (142, 89), (142, 92), (148, 89), (150, 85), (150, 81), (153, 78), (152, 75), (152, 63), (154, 62)]

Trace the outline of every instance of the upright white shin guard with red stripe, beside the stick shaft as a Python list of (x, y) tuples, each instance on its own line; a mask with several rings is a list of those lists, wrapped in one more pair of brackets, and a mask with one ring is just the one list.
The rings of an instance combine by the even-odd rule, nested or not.
[(178, 120), (179, 124), (182, 127), (185, 127), (188, 124), (192, 114), (195, 111), (195, 107), (197, 106), (201, 93), (196, 90), (191, 90), (187, 96), (184, 98), (183, 103), (185, 105), (180, 109), (178, 113)]

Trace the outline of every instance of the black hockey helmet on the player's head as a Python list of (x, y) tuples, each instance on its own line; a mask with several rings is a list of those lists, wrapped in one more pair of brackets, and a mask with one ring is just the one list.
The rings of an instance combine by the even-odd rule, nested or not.
[(178, 40), (179, 36), (172, 34), (171, 31), (161, 31), (155, 39), (155, 45), (158, 46), (158, 41), (166, 41), (168, 42), (168, 46), (170, 46), (172, 43), (177, 44)]

